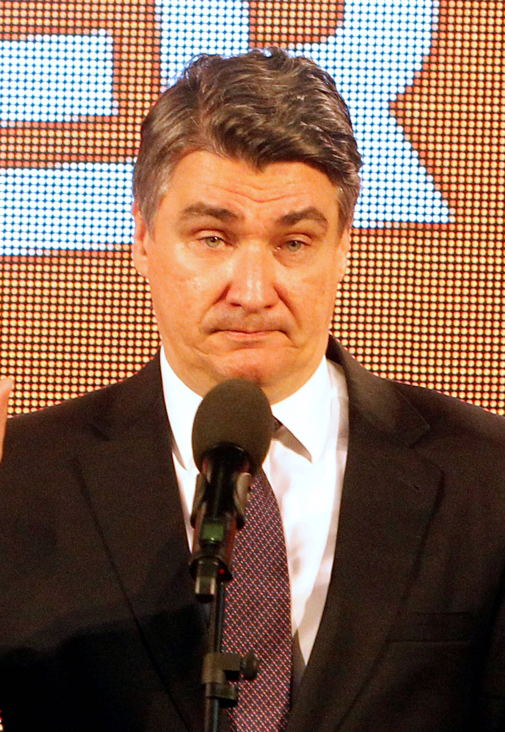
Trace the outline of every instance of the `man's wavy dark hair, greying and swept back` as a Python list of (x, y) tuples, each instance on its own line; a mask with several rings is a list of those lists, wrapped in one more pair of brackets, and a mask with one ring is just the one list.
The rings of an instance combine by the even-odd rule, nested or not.
[(310, 59), (269, 48), (191, 61), (143, 122), (133, 190), (149, 228), (175, 165), (197, 150), (257, 170), (311, 165), (338, 188), (341, 229), (351, 223), (361, 157), (333, 78)]

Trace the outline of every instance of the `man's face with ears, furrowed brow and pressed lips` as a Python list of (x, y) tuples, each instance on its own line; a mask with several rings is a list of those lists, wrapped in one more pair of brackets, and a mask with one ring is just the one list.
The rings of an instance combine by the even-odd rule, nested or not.
[(148, 231), (134, 204), (134, 264), (148, 278), (167, 359), (205, 395), (247, 378), (271, 403), (308, 380), (327, 346), (349, 232), (337, 190), (305, 163), (261, 172), (191, 152)]

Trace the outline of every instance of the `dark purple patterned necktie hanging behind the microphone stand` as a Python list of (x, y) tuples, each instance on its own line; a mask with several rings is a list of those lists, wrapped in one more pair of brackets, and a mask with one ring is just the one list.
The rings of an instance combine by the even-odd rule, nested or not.
[(235, 539), (233, 580), (227, 586), (223, 646), (254, 651), (256, 679), (240, 679), (232, 732), (284, 732), (291, 687), (291, 597), (286, 545), (276, 496), (264, 471), (251, 485), (246, 523)]

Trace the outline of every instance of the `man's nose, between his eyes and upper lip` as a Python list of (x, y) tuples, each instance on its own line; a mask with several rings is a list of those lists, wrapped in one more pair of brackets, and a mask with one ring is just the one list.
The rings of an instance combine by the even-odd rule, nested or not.
[(226, 302), (246, 313), (276, 305), (275, 264), (270, 248), (261, 242), (238, 247), (230, 263)]

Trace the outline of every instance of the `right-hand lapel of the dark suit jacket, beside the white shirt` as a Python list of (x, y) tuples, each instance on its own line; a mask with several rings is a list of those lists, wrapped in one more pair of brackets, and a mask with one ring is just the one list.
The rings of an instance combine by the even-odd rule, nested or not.
[(395, 386), (335, 343), (349, 389), (349, 452), (333, 572), (288, 732), (337, 729), (380, 659), (409, 589), (441, 474), (414, 445), (428, 425)]

